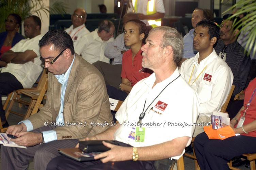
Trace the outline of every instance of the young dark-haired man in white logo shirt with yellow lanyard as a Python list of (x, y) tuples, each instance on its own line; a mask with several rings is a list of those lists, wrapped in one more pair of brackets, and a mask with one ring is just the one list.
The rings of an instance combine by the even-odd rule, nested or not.
[(220, 28), (210, 20), (196, 24), (193, 46), (198, 53), (184, 61), (180, 74), (199, 95), (200, 115), (193, 137), (204, 132), (204, 125), (211, 122), (212, 111), (220, 111), (225, 103), (233, 73), (213, 49), (220, 37)]

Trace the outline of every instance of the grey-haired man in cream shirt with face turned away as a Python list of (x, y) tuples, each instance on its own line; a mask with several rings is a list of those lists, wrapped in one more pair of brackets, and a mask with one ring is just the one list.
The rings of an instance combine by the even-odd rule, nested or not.
[(104, 49), (108, 42), (114, 40), (114, 31), (115, 26), (113, 22), (103, 20), (99, 23), (99, 26), (95, 31), (92, 31), (81, 38), (83, 42), (77, 45), (76, 50), (82, 51), (81, 56), (83, 59), (91, 64), (96, 61), (109, 63), (109, 58), (104, 55)]

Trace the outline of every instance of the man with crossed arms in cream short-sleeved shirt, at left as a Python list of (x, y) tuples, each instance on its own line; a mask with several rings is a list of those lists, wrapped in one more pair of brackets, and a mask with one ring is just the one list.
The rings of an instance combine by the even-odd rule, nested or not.
[[(0, 73), (0, 98), (1, 95), (8, 95), (17, 89), (31, 88), (43, 70), (38, 47), (38, 42), (43, 37), (40, 18), (35, 15), (26, 18), (24, 32), (28, 38), (20, 40), (2, 55), (1, 59), (7, 63), (7, 66), (3, 67)], [(0, 101), (0, 115), (3, 127), (9, 126), (6, 122), (2, 100)]]

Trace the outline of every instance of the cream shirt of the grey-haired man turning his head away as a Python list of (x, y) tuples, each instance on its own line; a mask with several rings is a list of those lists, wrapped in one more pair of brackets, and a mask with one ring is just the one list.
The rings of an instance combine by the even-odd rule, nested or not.
[(114, 38), (108, 41), (102, 41), (98, 35), (98, 29), (86, 34), (82, 37), (83, 42), (79, 43), (79, 49), (83, 49), (82, 57), (87, 62), (93, 64), (96, 61), (109, 63), (109, 58), (104, 55), (104, 49), (108, 42), (112, 42)]

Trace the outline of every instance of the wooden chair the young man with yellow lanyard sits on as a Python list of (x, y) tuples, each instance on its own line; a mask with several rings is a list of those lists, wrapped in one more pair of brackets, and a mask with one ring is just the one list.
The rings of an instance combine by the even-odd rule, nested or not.
[[(227, 105), (228, 105), (228, 103), (229, 103), (229, 101), (230, 101), (230, 98), (231, 98), (231, 96), (232, 96), (232, 94), (233, 94), (234, 89), (235, 89), (235, 85), (232, 85), (231, 88), (230, 88), (230, 91), (229, 91), (229, 93), (228, 93), (228, 97), (227, 97), (225, 103), (224, 103), (224, 104), (222, 105), (222, 107), (221, 107), (221, 112), (226, 113)], [(187, 156), (187, 157), (189, 157), (189, 158), (194, 159), (194, 162), (195, 162), (195, 169), (198, 170), (198, 169), (200, 169), (200, 168), (199, 168), (199, 165), (198, 165), (198, 162), (197, 162), (197, 158), (196, 158), (196, 156), (195, 156), (194, 140), (195, 140), (195, 137), (193, 137), (192, 140), (191, 140), (191, 143), (192, 143), (192, 145), (193, 145), (193, 155), (191, 155), (191, 154), (189, 154), (189, 153), (184, 153), (184, 155)], [(231, 164), (232, 164), (232, 163), (231, 163)]]

